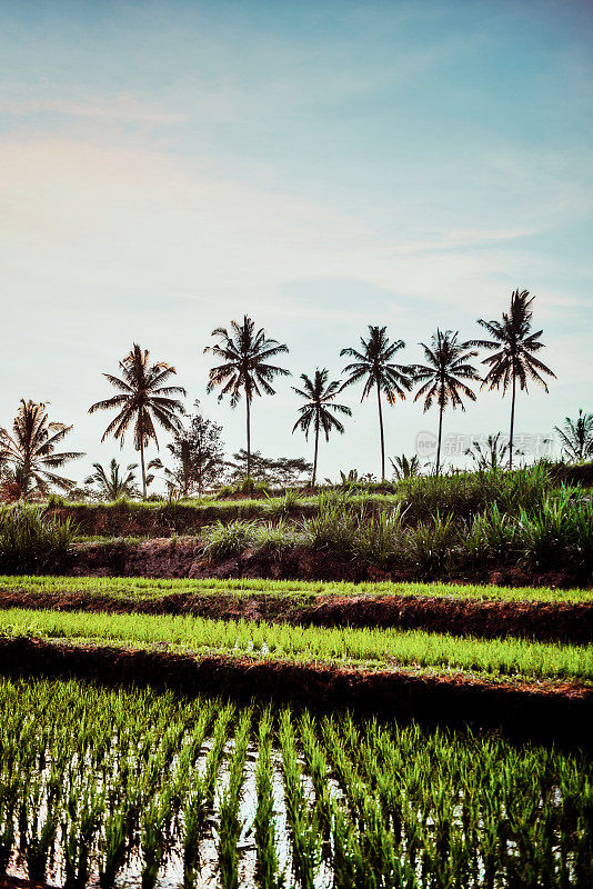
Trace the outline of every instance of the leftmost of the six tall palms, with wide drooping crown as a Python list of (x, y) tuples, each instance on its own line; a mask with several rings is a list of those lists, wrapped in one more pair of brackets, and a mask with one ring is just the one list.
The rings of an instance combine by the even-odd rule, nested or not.
[(154, 440), (157, 448), (159, 447), (154, 421), (157, 420), (168, 432), (175, 432), (180, 423), (178, 413), (183, 413), (183, 404), (170, 396), (178, 392), (185, 394), (182, 386), (163, 386), (171, 376), (177, 373), (177, 370), (165, 361), (151, 364), (149, 358), (148, 349), (142, 351), (140, 346), (134, 342), (131, 352), (120, 361), (122, 379), (112, 377), (111, 373), (103, 373), (111, 386), (119, 389), (119, 394), (104, 401), (97, 401), (89, 408), (89, 413), (112, 408), (118, 410), (117, 417), (103, 432), (101, 441), (113, 433), (113, 437), (119, 438), (121, 447), (123, 447), (125, 432), (133, 422), (134, 448), (140, 451), (142, 497), (144, 499), (147, 497), (144, 448), (151, 439)]

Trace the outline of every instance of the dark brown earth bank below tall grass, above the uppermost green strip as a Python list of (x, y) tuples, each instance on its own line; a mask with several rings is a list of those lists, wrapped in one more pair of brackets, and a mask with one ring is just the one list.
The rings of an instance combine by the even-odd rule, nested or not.
[(211, 561), (200, 556), (195, 538), (155, 538), (141, 543), (114, 540), (110, 543), (82, 543), (76, 547), (67, 573), (91, 577), (149, 578), (270, 578), (271, 580), (446, 580), (495, 583), (509, 587), (582, 586), (569, 571), (537, 573), (522, 568), (492, 566), (466, 571), (460, 577), (414, 572), (409, 568), (386, 571), (376, 565), (308, 547), (293, 547), (281, 555), (245, 550), (232, 559)]

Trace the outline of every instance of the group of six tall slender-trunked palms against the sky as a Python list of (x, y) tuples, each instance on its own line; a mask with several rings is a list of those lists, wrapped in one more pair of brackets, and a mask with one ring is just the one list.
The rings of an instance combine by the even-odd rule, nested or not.
[[(481, 387), (509, 389), (511, 398), (511, 433), (509, 442), (509, 466), (513, 465), (513, 431), (515, 397), (517, 386), (527, 390), (530, 382), (541, 384), (547, 391), (542, 374), (554, 377), (553, 371), (543, 364), (535, 353), (543, 348), (540, 337), (542, 331), (532, 331), (532, 303), (527, 290), (515, 290), (511, 296), (509, 311), (501, 321), (479, 323), (488, 331), (490, 339), (461, 341), (459, 332), (440, 330), (433, 334), (429, 344), (420, 343), (425, 363), (401, 364), (394, 358), (404, 348), (403, 340), (390, 341), (386, 327), (369, 326), (369, 336), (361, 337), (358, 349), (342, 349), (341, 356), (353, 359), (344, 368), (344, 380), (330, 380), (326, 368), (316, 369), (312, 377), (301, 374), (301, 388), (292, 387), (303, 400), (299, 408), (299, 419), (293, 432), (301, 429), (305, 438), (310, 431), (314, 436), (313, 477), (316, 478), (320, 433), (329, 440), (335, 430), (343, 433), (344, 426), (338, 414), (351, 416), (345, 404), (335, 401), (343, 389), (355, 383), (363, 383), (361, 401), (371, 392), (376, 392), (379, 430), (381, 443), (381, 478), (385, 478), (385, 442), (383, 426), (383, 399), (394, 404), (404, 399), (414, 386), (418, 390), (414, 401), (423, 399), (424, 411), (433, 404), (439, 408), (439, 436), (435, 472), (441, 470), (441, 441), (443, 413), (448, 407), (465, 410), (464, 399), (475, 401), (476, 396), (470, 383), (480, 382)], [(217, 328), (212, 336), (218, 340), (204, 352), (211, 352), (220, 359), (220, 363), (211, 368), (208, 391), (219, 391), (219, 401), (229, 397), (234, 408), (241, 398), (245, 399), (247, 424), (247, 472), (250, 473), (251, 457), (251, 402), (254, 396), (273, 396), (272, 383), (277, 377), (289, 376), (290, 371), (272, 363), (278, 356), (289, 351), (288, 346), (271, 339), (263, 328), (255, 329), (253, 320), (247, 314), (241, 323), (231, 322), (231, 328)], [(472, 363), (478, 358), (478, 349), (493, 352), (483, 359), (488, 373), (482, 377)], [(160, 361), (150, 362), (150, 354), (134, 344), (132, 351), (120, 362), (121, 377), (105, 373), (105, 378), (118, 390), (118, 394), (92, 404), (90, 412), (97, 410), (118, 411), (103, 433), (103, 440), (113, 434), (123, 443), (125, 432), (133, 427), (133, 440), (140, 451), (142, 472), (142, 492), (145, 497), (147, 476), (144, 466), (144, 448), (152, 439), (158, 446), (157, 424), (167, 431), (179, 428), (183, 407), (178, 398), (185, 390), (180, 386), (171, 386), (170, 377), (175, 369)]]

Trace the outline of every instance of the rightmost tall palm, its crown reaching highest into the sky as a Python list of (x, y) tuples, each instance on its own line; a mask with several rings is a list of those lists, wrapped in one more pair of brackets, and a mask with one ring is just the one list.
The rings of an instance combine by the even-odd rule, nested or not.
[(513, 468), (513, 431), (515, 422), (515, 394), (516, 382), (520, 389), (527, 392), (527, 380), (543, 386), (547, 392), (547, 386), (542, 378), (542, 373), (549, 373), (555, 378), (555, 373), (543, 364), (533, 352), (544, 348), (539, 337), (542, 330), (531, 333), (531, 319), (533, 312), (531, 303), (534, 297), (529, 298), (529, 290), (513, 290), (511, 293), (511, 308), (509, 312), (503, 312), (502, 321), (484, 321), (480, 318), (481, 324), (493, 339), (473, 340), (472, 346), (482, 349), (496, 350), (494, 354), (484, 358), (483, 364), (490, 367), (482, 386), (488, 386), (490, 390), (502, 387), (502, 394), (511, 387), (511, 433), (509, 436), (509, 469)]

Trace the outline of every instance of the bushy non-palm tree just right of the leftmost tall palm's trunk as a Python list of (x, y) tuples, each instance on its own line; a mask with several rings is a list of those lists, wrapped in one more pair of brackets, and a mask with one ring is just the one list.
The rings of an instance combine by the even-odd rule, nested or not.
[[(200, 404), (194, 401), (195, 408)], [(197, 492), (202, 497), (204, 490), (214, 486), (224, 467), (224, 452), (221, 440), (222, 427), (195, 413), (188, 428), (180, 428), (167, 447), (175, 460), (174, 468), (165, 469), (165, 478), (172, 490), (181, 497)]]

